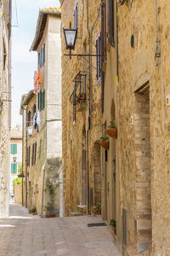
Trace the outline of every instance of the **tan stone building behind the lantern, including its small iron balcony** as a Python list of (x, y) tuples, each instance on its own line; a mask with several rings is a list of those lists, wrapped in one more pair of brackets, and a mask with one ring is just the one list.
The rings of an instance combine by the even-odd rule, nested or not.
[[(101, 212), (101, 73), (96, 70), (100, 43), (100, 1), (60, 1), (62, 28), (77, 28), (71, 54), (62, 33), (63, 183), (65, 216)], [(87, 4), (88, 3), (88, 4)], [(99, 11), (98, 11), (99, 9)], [(89, 54), (94, 55), (89, 56)], [(96, 77), (98, 75), (98, 77)]]

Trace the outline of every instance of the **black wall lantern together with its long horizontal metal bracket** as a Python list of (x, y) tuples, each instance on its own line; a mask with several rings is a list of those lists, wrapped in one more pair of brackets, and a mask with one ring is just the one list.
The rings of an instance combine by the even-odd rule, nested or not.
[(65, 35), (65, 44), (66, 44), (66, 49), (70, 49), (70, 54), (65, 55), (65, 56), (103, 56), (103, 55), (71, 55), (71, 49), (75, 49), (75, 44), (77, 41), (77, 29), (73, 28), (63, 28), (63, 32)]

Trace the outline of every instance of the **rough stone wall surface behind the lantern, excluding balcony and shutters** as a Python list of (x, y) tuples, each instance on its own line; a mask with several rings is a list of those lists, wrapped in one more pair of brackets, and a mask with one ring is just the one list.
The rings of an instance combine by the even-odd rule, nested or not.
[[(75, 50), (73, 54), (83, 53), (83, 44), (86, 45), (87, 54), (89, 54), (89, 37), (88, 29), (91, 30), (94, 21), (97, 18), (97, 10), (100, 6), (100, 1), (89, 1), (88, 19), (87, 19), (87, 2), (85, 1), (64, 1), (61, 9), (62, 27), (71, 27), (73, 24), (74, 8), (78, 7), (78, 35)], [(95, 39), (99, 35), (101, 21), (97, 18), (94, 25), (92, 39), (92, 54), (95, 54)], [(87, 24), (87, 21), (89, 23)], [(73, 124), (72, 119), (72, 104), (70, 96), (74, 88), (73, 79), (78, 72), (84, 71), (82, 68), (82, 57), (64, 56), (67, 53), (65, 49), (65, 38), (62, 34), (62, 120), (63, 120), (63, 183), (64, 183), (64, 204), (65, 216), (71, 212), (77, 211), (77, 205), (82, 204), (86, 200), (88, 210), (93, 207), (89, 206), (89, 191), (93, 189), (94, 200), (94, 143), (99, 142), (101, 137), (101, 84), (96, 82), (96, 58), (92, 58), (92, 84), (89, 84), (88, 61), (85, 64), (87, 71), (87, 105), (82, 112), (77, 112), (76, 123)], [(87, 57), (88, 58), (88, 57)], [(89, 60), (89, 58), (88, 58)], [(91, 113), (91, 129), (88, 131), (88, 115), (89, 115), (89, 87), (92, 85), (92, 113)], [(85, 140), (82, 136), (85, 129)], [(100, 150), (100, 148), (99, 148)], [(82, 155), (86, 155), (86, 170), (82, 166)], [(84, 156), (83, 156), (84, 157)], [(82, 180), (85, 178), (85, 181)], [(84, 189), (82, 189), (82, 185)], [(86, 189), (85, 189), (86, 187)], [(82, 195), (83, 191), (86, 195)]]

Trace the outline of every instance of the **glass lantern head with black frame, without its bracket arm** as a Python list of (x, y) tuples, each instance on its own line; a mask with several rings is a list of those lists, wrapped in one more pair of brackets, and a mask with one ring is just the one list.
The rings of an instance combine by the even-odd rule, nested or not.
[(65, 35), (66, 49), (74, 49), (77, 40), (77, 29), (65, 29), (63, 28)]

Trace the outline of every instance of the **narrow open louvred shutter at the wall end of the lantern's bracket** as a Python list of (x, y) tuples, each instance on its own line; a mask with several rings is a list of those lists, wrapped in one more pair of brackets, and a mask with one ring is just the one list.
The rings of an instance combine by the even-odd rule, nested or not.
[(101, 35), (96, 38), (96, 78), (101, 79)]

